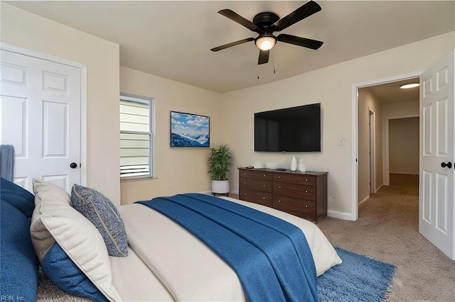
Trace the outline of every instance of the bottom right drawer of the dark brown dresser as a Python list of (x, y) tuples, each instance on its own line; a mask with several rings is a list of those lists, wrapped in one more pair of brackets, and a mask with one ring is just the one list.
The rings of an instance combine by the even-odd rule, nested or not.
[(314, 220), (316, 214), (316, 203), (304, 199), (292, 198), (289, 196), (274, 195), (273, 207), (295, 216), (310, 218)]

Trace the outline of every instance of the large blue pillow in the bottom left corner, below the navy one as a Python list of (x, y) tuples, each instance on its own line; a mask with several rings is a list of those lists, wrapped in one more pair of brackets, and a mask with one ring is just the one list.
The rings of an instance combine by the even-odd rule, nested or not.
[(31, 243), (30, 219), (3, 196), (0, 202), (0, 299), (36, 301), (38, 259)]

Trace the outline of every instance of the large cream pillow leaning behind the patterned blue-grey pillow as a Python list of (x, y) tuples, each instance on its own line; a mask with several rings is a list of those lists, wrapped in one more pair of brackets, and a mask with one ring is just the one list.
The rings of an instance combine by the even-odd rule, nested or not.
[[(109, 301), (122, 301), (112, 284), (112, 271), (105, 242), (95, 225), (92, 225), (87, 218), (71, 206), (70, 194), (55, 184), (41, 179), (33, 179), (33, 192), (35, 193), (35, 210), (30, 230), (33, 247), (35, 247), (36, 255), (42, 266), (48, 264), (45, 263), (48, 259), (46, 255), (60, 250), (61, 247), (61, 250), (76, 267)], [(55, 242), (60, 245), (58, 249), (54, 248)], [(59, 257), (61, 258), (61, 255)], [(68, 259), (65, 260), (68, 263)], [(67, 282), (76, 269), (70, 270), (68, 265), (55, 269), (55, 263), (53, 265), (54, 267), (48, 269), (48, 272), (58, 274), (60, 283)], [(67, 269), (67, 275), (65, 272), (63, 274), (60, 272)], [(60, 288), (68, 286), (68, 284), (57, 285)], [(69, 286), (72, 286), (71, 283)], [(64, 290), (68, 291), (65, 288)], [(72, 293), (80, 293), (80, 289), (77, 289), (76, 293)], [(83, 294), (84, 292), (77, 295), (83, 296)]]

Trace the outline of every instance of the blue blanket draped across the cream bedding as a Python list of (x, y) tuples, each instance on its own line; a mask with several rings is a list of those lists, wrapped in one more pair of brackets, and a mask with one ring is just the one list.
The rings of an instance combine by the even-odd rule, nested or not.
[(205, 194), (138, 203), (171, 218), (224, 259), (248, 301), (318, 301), (314, 259), (295, 225)]

